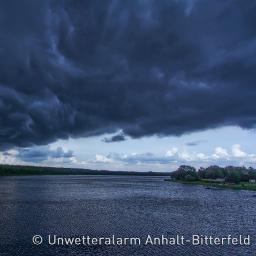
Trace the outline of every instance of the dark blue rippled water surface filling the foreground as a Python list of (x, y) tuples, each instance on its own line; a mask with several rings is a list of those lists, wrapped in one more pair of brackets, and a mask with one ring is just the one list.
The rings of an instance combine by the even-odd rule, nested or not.
[[(0, 178), (0, 256), (256, 255), (255, 192), (163, 177)], [(33, 235), (252, 235), (251, 246), (35, 246)]]

